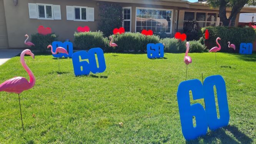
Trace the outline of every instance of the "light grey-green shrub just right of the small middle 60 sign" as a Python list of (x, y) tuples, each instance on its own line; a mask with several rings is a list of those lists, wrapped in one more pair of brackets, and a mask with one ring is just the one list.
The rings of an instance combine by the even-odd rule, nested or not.
[(184, 53), (186, 51), (186, 41), (176, 38), (164, 38), (160, 42), (165, 44), (165, 52), (167, 53)]

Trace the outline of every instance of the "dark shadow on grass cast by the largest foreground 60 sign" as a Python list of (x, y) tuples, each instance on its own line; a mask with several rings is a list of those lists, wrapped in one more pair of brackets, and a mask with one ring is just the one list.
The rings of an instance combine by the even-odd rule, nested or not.
[[(235, 141), (233, 137), (226, 133), (232, 134), (238, 141)], [(251, 144), (253, 142), (250, 137), (239, 131), (237, 127), (228, 125), (221, 129), (217, 129), (216, 131), (211, 131), (206, 136), (202, 136), (196, 140), (186, 141), (186, 144), (199, 144), (202, 142), (217, 143), (216, 139), (219, 139), (223, 144)]]

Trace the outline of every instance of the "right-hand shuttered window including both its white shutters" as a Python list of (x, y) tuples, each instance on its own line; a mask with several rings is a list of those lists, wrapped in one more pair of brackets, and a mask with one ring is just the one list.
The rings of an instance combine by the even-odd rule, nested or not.
[(66, 20), (94, 22), (94, 8), (66, 6)]

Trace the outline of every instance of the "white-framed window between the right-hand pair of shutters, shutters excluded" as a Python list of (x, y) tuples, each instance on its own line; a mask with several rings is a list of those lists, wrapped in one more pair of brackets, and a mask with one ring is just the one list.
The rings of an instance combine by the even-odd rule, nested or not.
[(74, 6), (74, 13), (76, 21), (87, 21), (87, 7)]

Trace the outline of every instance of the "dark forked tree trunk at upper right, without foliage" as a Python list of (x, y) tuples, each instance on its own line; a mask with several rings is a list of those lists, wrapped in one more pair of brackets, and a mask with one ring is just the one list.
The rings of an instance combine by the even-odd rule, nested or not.
[(235, 21), (236, 21), (236, 16), (238, 13), (241, 11), (241, 9), (244, 7), (244, 5), (248, 2), (249, 0), (239, 0), (239, 2), (234, 3), (234, 6), (232, 7), (230, 17), (227, 18), (226, 16), (226, 0), (219, 0), (220, 6), (219, 6), (219, 18), (221, 22), (223, 22), (224, 26), (234, 26)]

